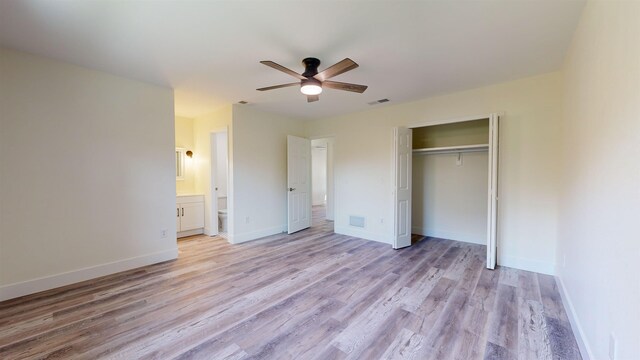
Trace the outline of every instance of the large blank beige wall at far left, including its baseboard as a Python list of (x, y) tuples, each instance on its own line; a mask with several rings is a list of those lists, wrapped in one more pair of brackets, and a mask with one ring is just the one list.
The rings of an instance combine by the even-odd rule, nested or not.
[(0, 300), (177, 256), (171, 89), (2, 49), (0, 84)]

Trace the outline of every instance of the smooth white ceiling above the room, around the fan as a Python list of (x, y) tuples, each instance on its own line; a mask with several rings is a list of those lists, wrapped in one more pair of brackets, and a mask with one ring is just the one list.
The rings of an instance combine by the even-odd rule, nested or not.
[[(193, 117), (245, 100), (258, 109), (319, 118), (557, 70), (583, 1), (0, 1), (0, 45), (175, 89)], [(307, 103), (302, 72), (349, 57), (360, 67)], [(375, 105), (385, 106), (385, 105)]]

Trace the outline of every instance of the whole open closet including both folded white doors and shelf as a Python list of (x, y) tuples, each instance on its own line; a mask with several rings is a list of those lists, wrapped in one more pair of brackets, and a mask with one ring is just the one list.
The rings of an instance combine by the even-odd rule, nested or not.
[(394, 129), (394, 239), (411, 234), (487, 245), (496, 264), (498, 116)]

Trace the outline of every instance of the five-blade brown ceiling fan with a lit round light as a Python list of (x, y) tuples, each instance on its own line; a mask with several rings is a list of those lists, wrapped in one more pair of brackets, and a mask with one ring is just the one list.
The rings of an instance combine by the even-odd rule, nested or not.
[(306, 58), (302, 60), (302, 64), (304, 64), (304, 72), (302, 74), (298, 74), (297, 72), (287, 69), (286, 67), (276, 64), (273, 61), (260, 61), (261, 64), (265, 64), (269, 67), (272, 67), (276, 70), (280, 70), (283, 73), (289, 74), (296, 79), (300, 79), (299, 82), (281, 84), (268, 86), (264, 88), (257, 89), (258, 91), (266, 91), (273, 89), (280, 89), (283, 87), (289, 86), (300, 86), (300, 92), (307, 95), (308, 102), (318, 101), (320, 99), (319, 95), (322, 92), (322, 88), (336, 89), (336, 90), (345, 90), (357, 93), (363, 93), (367, 90), (366, 85), (358, 85), (358, 84), (350, 84), (343, 83), (338, 81), (330, 81), (330, 79), (334, 76), (345, 73), (349, 70), (353, 70), (358, 67), (353, 60), (346, 58), (332, 66), (329, 66), (322, 72), (318, 72), (318, 66), (320, 65), (320, 60), (316, 58)]

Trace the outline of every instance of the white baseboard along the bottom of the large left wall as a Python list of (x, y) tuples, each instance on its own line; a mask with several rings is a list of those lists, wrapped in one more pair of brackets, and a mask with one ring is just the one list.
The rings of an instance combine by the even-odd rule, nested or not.
[(45, 276), (33, 280), (0, 286), (0, 301), (34, 294), (40, 291), (95, 279), (100, 276), (115, 274), (121, 271), (135, 269), (141, 266), (178, 258), (178, 247), (159, 251), (153, 254), (118, 260), (106, 264), (90, 266), (61, 274)]

